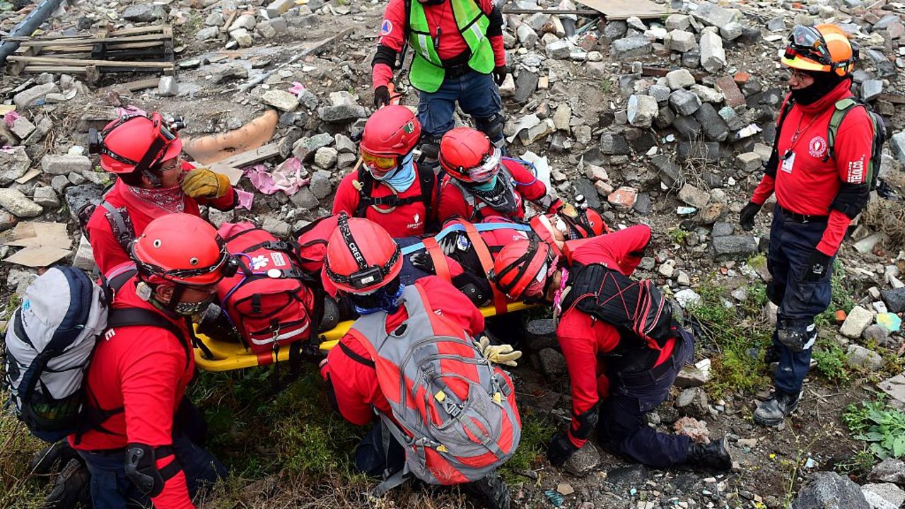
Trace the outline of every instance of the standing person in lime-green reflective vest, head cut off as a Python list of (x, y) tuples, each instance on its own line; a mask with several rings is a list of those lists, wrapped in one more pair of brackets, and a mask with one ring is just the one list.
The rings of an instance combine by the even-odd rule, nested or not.
[(414, 53), (409, 82), (421, 91), (418, 120), (429, 168), (436, 168), (440, 138), (454, 126), (456, 102), (502, 147), (505, 117), (497, 88), (506, 78), (502, 26), (493, 0), (390, 0), (386, 5), (371, 62), (374, 104), (380, 108), (390, 102), (387, 85), (408, 44)]

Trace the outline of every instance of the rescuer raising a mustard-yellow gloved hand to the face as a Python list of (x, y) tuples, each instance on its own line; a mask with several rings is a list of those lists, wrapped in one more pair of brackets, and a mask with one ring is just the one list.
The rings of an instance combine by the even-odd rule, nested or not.
[(100, 132), (100, 167), (118, 178), (87, 224), (100, 274), (129, 262), (129, 242), (153, 219), (199, 205), (230, 210), (238, 197), (229, 178), (179, 157), (182, 140), (159, 113), (126, 115)]

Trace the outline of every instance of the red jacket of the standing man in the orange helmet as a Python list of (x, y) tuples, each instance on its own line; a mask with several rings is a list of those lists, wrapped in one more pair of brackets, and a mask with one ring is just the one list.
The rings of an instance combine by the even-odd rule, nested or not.
[[(776, 178), (764, 175), (751, 197), (751, 201), (763, 205), (775, 191), (776, 202), (786, 210), (807, 216), (830, 216), (817, 249), (831, 256), (852, 223), (852, 217), (831, 208), (831, 204), (843, 183), (866, 185), (864, 178), (872, 154), (873, 124), (863, 108), (855, 108), (839, 126), (835, 157), (823, 161), (835, 102), (852, 97), (850, 86), (851, 82), (844, 80), (814, 104), (792, 106), (776, 142), (780, 156), (790, 153), (792, 157), (779, 161)], [(798, 130), (802, 132), (795, 138)]]

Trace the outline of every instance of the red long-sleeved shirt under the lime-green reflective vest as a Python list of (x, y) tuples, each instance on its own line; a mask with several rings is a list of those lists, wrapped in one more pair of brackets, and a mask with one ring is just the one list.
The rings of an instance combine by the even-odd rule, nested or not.
[[(491, 15), (493, 13), (495, 9), (493, 0), (476, 0), (476, 2), (484, 14)], [(462, 34), (459, 34), (459, 27), (455, 24), (455, 17), (452, 15), (452, 7), (450, 7), (449, 1), (443, 2), (441, 5), (424, 5), (424, 15), (430, 25), (432, 38), (437, 34), (438, 27), (440, 29), (440, 44), (437, 46), (437, 53), (441, 60), (448, 61), (468, 51), (468, 43), (465, 43)], [(377, 38), (378, 47), (383, 46), (385, 48), (384, 51), (394, 55), (401, 52), (405, 43), (407, 25), (408, 13), (405, 12), (405, 0), (390, 0), (384, 10), (384, 20), (380, 24), (380, 36)], [(493, 61), (497, 66), (506, 65), (506, 50), (503, 48), (501, 28), (501, 24), (495, 27), (491, 19), (491, 27), (488, 28), (488, 39), (493, 48)], [(493, 32), (491, 32), (491, 29)], [(494, 32), (500, 32), (500, 34), (494, 34)], [(378, 53), (381, 52), (378, 50)], [(393, 69), (387, 63), (375, 60), (371, 75), (375, 89), (380, 86), (386, 86), (393, 79)]]

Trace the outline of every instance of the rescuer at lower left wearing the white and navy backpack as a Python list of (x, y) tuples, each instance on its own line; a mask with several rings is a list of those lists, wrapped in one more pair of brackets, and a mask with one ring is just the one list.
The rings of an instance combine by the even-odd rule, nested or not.
[(188, 317), (214, 299), (215, 283), (233, 264), (214, 227), (182, 213), (148, 224), (131, 254), (134, 266), (107, 274), (111, 283), (128, 279), (111, 284), (119, 288), (111, 327), (86, 377), (90, 424), (69, 442), (90, 471), (95, 509), (151, 502), (157, 509), (191, 508), (198, 488), (226, 470), (197, 444), (204, 435), (200, 413), (186, 418), (193, 412), (183, 396), (195, 370)]

